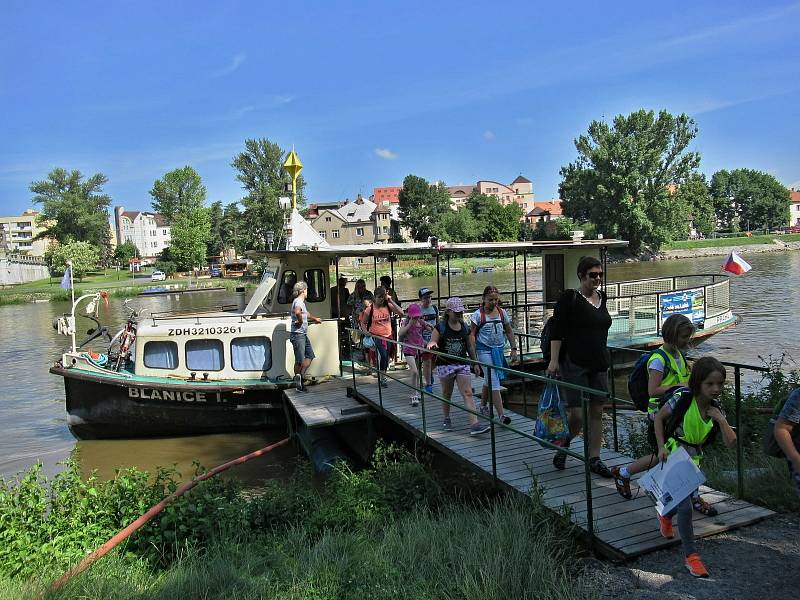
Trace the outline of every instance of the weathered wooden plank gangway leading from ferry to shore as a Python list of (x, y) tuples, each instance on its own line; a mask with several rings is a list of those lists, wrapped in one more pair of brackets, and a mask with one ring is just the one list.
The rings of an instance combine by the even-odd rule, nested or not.
[[(393, 376), (393, 373), (390, 373), (390, 376)], [(353, 384), (350, 378), (344, 378), (344, 381), (349, 386)], [(410, 405), (408, 387), (390, 380), (388, 387), (381, 389), (381, 408), (375, 378), (362, 376), (357, 379), (356, 384), (354, 394), (356, 398), (376, 410), (382, 410), (386, 417), (413, 435), (427, 439), (432, 446), (460, 463), (489, 477), (492, 476), (490, 433), (470, 436), (467, 413), (452, 407), (450, 416), (454, 430), (442, 431), (441, 402), (426, 401), (427, 433), (425, 433), (422, 406), (414, 408)], [(309, 388), (307, 394), (310, 395), (314, 391), (314, 388)], [(324, 393), (322, 389), (320, 392), (322, 392), (321, 402), (325, 401), (325, 396), (330, 402), (337, 400), (331, 394)], [(434, 392), (440, 393), (438, 383), (434, 386)], [(453, 400), (461, 401), (457, 389), (454, 390)], [(533, 434), (534, 419), (525, 418), (509, 410), (506, 410), (506, 414), (511, 416), (513, 427)], [(556, 511), (563, 511), (566, 507), (572, 522), (584, 532), (587, 531), (586, 488), (582, 461), (568, 457), (567, 468), (558, 471), (552, 465), (553, 450), (543, 448), (502, 426), (496, 426), (495, 443), (497, 478), (501, 485), (524, 494), (529, 493), (534, 485), (539, 485), (547, 506)], [(575, 438), (570, 449), (578, 453), (583, 452), (582, 440)], [(601, 456), (609, 467), (632, 461), (630, 457), (610, 449), (604, 449)], [(592, 486), (597, 547), (606, 556), (627, 560), (680, 543), (677, 528), (675, 539), (667, 540), (661, 537), (653, 504), (644, 492), (633, 500), (624, 500), (617, 493), (611, 479), (603, 479), (596, 475), (592, 475)], [(703, 487), (701, 493), (707, 501), (716, 506), (719, 514), (715, 517), (694, 514), (694, 530), (697, 537), (706, 537), (749, 525), (774, 514), (771, 510), (738, 500), (711, 488)]]

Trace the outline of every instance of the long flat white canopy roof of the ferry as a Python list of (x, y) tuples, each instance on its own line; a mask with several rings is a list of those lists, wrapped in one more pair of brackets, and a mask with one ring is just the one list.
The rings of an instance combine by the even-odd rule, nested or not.
[(475, 242), (450, 243), (442, 242), (432, 246), (427, 242), (402, 244), (350, 244), (328, 246), (300, 246), (290, 250), (271, 250), (258, 252), (259, 256), (283, 258), (297, 254), (323, 254), (330, 258), (345, 256), (392, 256), (395, 254), (492, 254), (495, 252), (541, 252), (567, 248), (622, 248), (628, 245), (625, 240), (545, 240), (529, 242)]

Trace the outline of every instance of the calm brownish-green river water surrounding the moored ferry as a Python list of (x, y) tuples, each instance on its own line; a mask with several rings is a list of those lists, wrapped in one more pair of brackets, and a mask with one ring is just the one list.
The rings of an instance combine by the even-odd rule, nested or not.
[[(777, 357), (785, 353), (789, 366), (796, 367), (793, 359), (800, 360), (800, 335), (794, 331), (795, 319), (800, 315), (800, 286), (796, 284), (800, 280), (800, 252), (756, 254), (747, 260), (753, 270), (733, 278), (731, 285), (734, 312), (742, 322), (705, 342), (700, 352), (751, 364), (760, 364), (759, 356)], [(615, 264), (609, 266), (609, 280), (718, 273), (721, 262), (722, 257), (705, 257)], [(513, 273), (453, 276), (451, 293), (478, 293), (488, 283), (511, 290)], [(446, 294), (447, 284), (442, 285), (442, 293)], [(435, 277), (398, 279), (395, 288), (401, 298), (412, 298), (422, 286), (435, 290)], [(518, 286), (522, 288), (521, 276)], [(541, 289), (538, 271), (528, 273), (528, 286)], [(209, 292), (142, 297), (134, 303), (140, 310), (164, 311), (233, 304), (235, 298), (227, 292)], [(48, 472), (54, 472), (58, 461), (76, 447), (82, 468), (87, 472), (97, 469), (101, 476), (113, 476), (114, 469), (125, 466), (150, 470), (173, 464), (189, 475), (194, 460), (207, 467), (215, 466), (284, 437), (283, 431), (275, 430), (148, 440), (76, 441), (66, 425), (63, 382), (47, 371), (69, 343), (68, 338), (57, 335), (51, 326), (53, 318), (67, 310), (66, 303), (56, 302), (0, 306), (0, 422), (6, 427), (6, 434), (0, 438), (0, 476), (15, 474), (37, 460), (45, 464)], [(101, 306), (100, 321), (112, 331), (124, 319), (121, 300), (112, 299), (110, 306)], [(91, 325), (85, 319), (80, 321), (84, 329)], [(282, 477), (293, 469), (294, 458), (294, 450), (284, 447), (239, 467), (236, 476), (249, 481)]]

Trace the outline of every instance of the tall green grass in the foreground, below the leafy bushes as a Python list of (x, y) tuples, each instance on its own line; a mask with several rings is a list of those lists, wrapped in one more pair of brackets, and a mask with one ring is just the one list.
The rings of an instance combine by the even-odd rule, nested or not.
[[(48, 579), (0, 579), (0, 598), (31, 598)], [(187, 549), (154, 571), (106, 557), (48, 598), (505, 598), (597, 597), (560, 525), (525, 498), (422, 509), (378, 531), (303, 527)]]

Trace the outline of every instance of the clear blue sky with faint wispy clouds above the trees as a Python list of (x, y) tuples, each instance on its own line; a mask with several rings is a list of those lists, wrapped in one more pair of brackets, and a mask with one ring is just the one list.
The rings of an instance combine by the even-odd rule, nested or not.
[(695, 118), (709, 175), (800, 185), (800, 3), (495, 4), (6, 0), (0, 213), (56, 166), (145, 210), (188, 164), (233, 202), (259, 137), (295, 145), (312, 202), (409, 173), (544, 200), (592, 119), (643, 107)]

